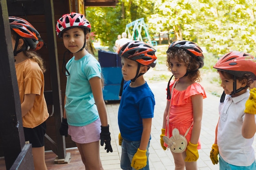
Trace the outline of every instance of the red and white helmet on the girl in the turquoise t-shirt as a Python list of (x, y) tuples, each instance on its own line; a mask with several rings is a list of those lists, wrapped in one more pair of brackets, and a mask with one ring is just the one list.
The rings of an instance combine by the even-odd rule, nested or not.
[(59, 38), (62, 38), (63, 31), (74, 27), (86, 28), (89, 32), (91, 32), (92, 29), (90, 22), (83, 14), (72, 12), (62, 15), (62, 17), (58, 19), (56, 33)]

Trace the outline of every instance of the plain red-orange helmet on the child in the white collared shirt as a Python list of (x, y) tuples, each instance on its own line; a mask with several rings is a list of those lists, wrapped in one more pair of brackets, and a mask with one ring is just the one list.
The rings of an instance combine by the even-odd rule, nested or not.
[(256, 58), (248, 53), (231, 51), (223, 55), (213, 68), (237, 77), (250, 74), (256, 80)]

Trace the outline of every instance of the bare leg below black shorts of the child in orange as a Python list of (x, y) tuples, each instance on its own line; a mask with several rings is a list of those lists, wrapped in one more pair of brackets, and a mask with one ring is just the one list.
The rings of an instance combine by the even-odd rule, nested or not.
[(47, 170), (45, 164), (45, 147), (32, 148), (35, 170)]

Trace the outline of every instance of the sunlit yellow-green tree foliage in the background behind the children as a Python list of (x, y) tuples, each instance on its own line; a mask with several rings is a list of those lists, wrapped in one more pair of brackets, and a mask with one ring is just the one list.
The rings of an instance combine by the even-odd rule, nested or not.
[[(116, 7), (88, 7), (96, 39), (113, 46), (126, 24), (144, 18), (150, 35), (174, 32), (220, 57), (229, 51), (256, 55), (256, 0), (119, 0)], [(162, 54), (160, 54), (162, 55)]]

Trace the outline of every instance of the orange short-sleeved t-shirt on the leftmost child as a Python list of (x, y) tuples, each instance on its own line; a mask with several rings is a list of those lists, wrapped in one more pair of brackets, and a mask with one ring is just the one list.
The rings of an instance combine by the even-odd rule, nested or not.
[(26, 94), (36, 94), (34, 105), (29, 112), (22, 117), (23, 127), (34, 128), (42, 124), (49, 113), (44, 96), (44, 75), (37, 62), (27, 59), (15, 65), (20, 103), (24, 101)]

